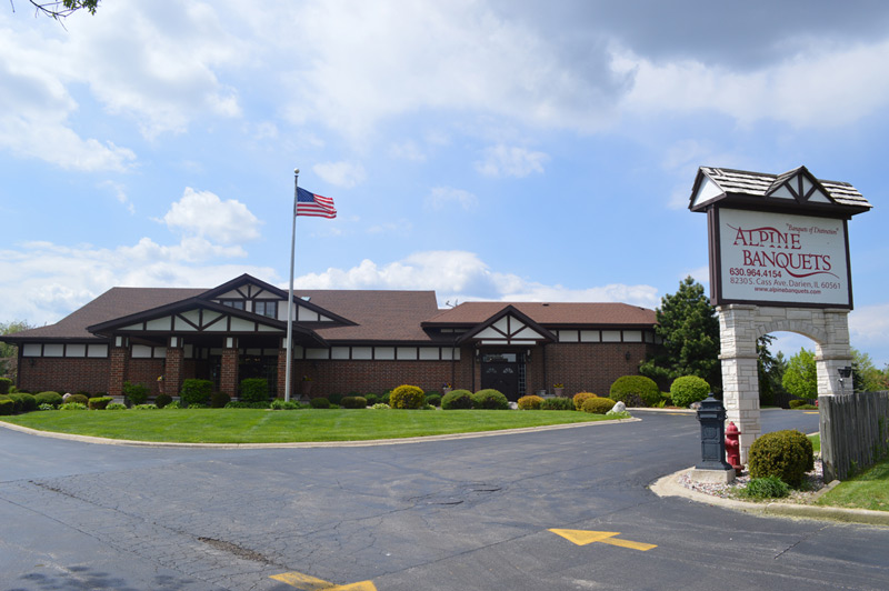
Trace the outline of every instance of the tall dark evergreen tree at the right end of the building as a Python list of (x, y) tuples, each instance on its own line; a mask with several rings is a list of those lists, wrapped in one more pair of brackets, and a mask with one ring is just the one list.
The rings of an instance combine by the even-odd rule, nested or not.
[(707, 380), (713, 391), (721, 391), (719, 319), (703, 286), (687, 277), (676, 293), (661, 298), (656, 312), (655, 331), (663, 347), (639, 371), (658, 382), (661, 390), (667, 390), (676, 378), (697, 375)]

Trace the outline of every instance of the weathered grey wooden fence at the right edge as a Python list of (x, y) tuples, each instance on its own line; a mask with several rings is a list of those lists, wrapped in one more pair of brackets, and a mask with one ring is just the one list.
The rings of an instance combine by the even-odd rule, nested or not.
[(889, 392), (818, 397), (825, 482), (845, 480), (889, 454)]

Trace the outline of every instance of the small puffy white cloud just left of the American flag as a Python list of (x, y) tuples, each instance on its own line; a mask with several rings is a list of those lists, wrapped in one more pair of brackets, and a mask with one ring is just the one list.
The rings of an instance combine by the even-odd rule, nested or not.
[[(187, 237), (207, 238), (223, 244), (259, 238), (261, 223), (240, 201), (222, 201), (210, 191), (194, 191), (190, 187), (186, 188), (182, 199), (170, 207), (162, 221)], [(202, 244), (197, 250), (206, 251), (207, 247)]]

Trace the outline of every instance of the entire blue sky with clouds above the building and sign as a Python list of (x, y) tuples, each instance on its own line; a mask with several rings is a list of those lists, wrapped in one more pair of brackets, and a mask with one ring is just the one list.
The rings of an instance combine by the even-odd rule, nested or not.
[(298, 286), (655, 308), (707, 283), (698, 167), (805, 164), (875, 206), (851, 339), (889, 362), (889, 3), (29, 7), (0, 9), (0, 321), (287, 286), (293, 168), (339, 210), (298, 220)]

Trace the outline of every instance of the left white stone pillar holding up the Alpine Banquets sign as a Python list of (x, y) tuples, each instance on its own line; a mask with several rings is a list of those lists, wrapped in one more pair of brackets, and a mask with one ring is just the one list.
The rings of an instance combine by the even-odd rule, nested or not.
[(717, 312), (726, 420), (732, 421), (741, 431), (741, 463), (746, 463), (750, 445), (762, 432), (757, 372), (757, 307), (728, 304), (718, 307)]

